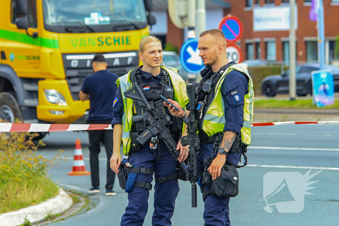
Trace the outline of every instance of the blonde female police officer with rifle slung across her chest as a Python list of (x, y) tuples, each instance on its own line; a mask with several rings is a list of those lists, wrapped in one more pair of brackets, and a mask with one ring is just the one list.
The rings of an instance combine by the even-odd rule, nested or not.
[[(169, 114), (161, 95), (184, 108), (188, 104), (186, 83), (177, 70), (160, 66), (161, 42), (152, 35), (141, 39), (139, 58), (143, 66), (117, 80), (113, 101), (112, 170), (128, 192), (128, 205), (121, 226), (141, 226), (148, 210), (154, 174), (153, 226), (170, 226), (179, 192), (177, 162), (185, 168), (188, 147), (183, 120)], [(128, 159), (122, 159), (120, 145)]]

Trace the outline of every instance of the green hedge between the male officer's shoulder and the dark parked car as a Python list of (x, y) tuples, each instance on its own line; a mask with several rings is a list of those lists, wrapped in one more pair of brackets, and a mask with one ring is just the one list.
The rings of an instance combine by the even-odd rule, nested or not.
[[(283, 68), (286, 70), (286, 67)], [(253, 80), (253, 88), (255, 95), (262, 94), (262, 79), (269, 75), (280, 75), (281, 66), (260, 66), (260, 67), (248, 67), (249, 75)]]

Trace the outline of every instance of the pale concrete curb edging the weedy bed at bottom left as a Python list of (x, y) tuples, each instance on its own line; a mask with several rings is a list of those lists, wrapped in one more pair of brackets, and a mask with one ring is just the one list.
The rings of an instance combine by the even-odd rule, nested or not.
[(0, 214), (0, 226), (21, 225), (24, 223), (24, 218), (26, 216), (31, 223), (42, 221), (48, 212), (52, 212), (53, 214), (62, 213), (68, 210), (72, 205), (72, 198), (60, 188), (58, 196), (47, 199), (45, 202), (18, 211)]

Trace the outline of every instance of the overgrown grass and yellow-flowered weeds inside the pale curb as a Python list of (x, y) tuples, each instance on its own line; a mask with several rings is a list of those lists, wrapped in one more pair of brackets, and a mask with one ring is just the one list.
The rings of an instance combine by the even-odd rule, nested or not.
[(61, 160), (37, 155), (45, 144), (32, 139), (38, 134), (0, 133), (0, 213), (15, 211), (58, 194), (47, 176), (48, 166)]

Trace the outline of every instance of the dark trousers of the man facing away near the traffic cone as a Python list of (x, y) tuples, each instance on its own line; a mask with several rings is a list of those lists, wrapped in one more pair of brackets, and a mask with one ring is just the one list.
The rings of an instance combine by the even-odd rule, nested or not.
[(99, 153), (100, 143), (105, 145), (107, 155), (107, 172), (106, 172), (106, 190), (112, 190), (114, 186), (115, 173), (110, 168), (109, 160), (113, 154), (113, 130), (90, 130), (90, 165), (92, 187), (99, 187)]

